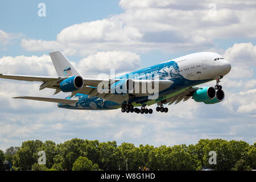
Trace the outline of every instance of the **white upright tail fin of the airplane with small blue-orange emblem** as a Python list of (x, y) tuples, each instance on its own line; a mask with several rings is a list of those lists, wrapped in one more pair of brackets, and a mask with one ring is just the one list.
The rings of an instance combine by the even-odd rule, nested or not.
[(61, 51), (50, 52), (52, 63), (59, 77), (81, 76), (81, 73), (73, 66)]

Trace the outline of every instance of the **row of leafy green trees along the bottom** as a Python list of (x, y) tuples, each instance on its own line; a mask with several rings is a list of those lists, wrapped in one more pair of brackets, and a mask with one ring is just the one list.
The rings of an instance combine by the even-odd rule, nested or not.
[[(38, 164), (39, 151), (46, 154), (46, 165)], [(209, 164), (210, 151), (216, 151), (216, 164)], [(195, 145), (140, 145), (72, 139), (55, 144), (50, 140), (28, 140), (20, 147), (0, 150), (0, 169), (9, 161), (14, 170), (215, 170), (256, 169), (256, 143), (223, 139), (201, 139)]]

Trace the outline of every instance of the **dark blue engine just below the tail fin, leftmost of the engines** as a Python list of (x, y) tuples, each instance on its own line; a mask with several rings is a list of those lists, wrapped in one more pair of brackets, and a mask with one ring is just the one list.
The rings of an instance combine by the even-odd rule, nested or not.
[(84, 81), (81, 76), (72, 76), (60, 82), (60, 90), (62, 92), (73, 92), (81, 89)]

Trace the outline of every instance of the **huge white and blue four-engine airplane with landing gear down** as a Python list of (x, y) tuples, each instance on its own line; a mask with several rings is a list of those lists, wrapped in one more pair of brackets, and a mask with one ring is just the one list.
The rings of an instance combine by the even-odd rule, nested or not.
[[(164, 105), (178, 104), (192, 98), (204, 104), (217, 104), (225, 93), (219, 84), (231, 70), (231, 64), (214, 52), (197, 52), (152, 65), (138, 71), (113, 78), (86, 78), (72, 65), (61, 51), (49, 53), (57, 77), (0, 74), (0, 78), (42, 82), (39, 90), (55, 89), (71, 93), (66, 98), (13, 97), (26, 100), (56, 102), (65, 109), (111, 110), (122, 113), (152, 114), (150, 105), (157, 104), (156, 111), (167, 113)], [(196, 85), (216, 80), (216, 85)], [(53, 94), (53, 95), (54, 95)], [(139, 108), (141, 107), (141, 108)]]

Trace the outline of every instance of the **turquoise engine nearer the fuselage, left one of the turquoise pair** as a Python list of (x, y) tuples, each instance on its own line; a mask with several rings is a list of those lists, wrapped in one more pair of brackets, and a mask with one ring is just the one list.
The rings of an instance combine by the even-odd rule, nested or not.
[(193, 93), (193, 99), (196, 102), (207, 102), (211, 101), (216, 97), (216, 90), (211, 86), (206, 86), (196, 90)]

